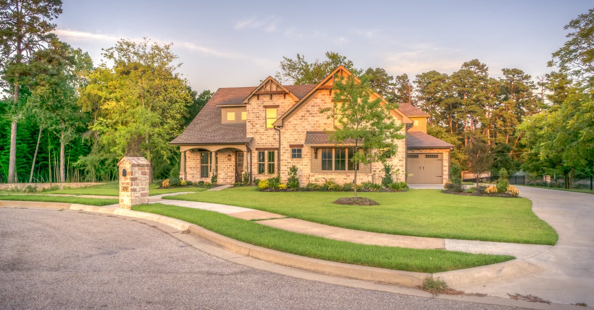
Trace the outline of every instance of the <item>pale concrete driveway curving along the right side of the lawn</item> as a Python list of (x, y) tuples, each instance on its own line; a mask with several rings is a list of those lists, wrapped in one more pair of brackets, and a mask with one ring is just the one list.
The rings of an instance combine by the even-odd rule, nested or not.
[(559, 234), (557, 245), (527, 258), (542, 268), (528, 276), (463, 287), (467, 292), (519, 293), (560, 303), (594, 305), (594, 195), (519, 186), (532, 210)]

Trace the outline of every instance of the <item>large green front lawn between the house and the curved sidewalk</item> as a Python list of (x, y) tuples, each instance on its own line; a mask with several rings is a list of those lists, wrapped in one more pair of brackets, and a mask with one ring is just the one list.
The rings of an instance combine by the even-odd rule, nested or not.
[(558, 235), (526, 198), (443, 194), (438, 189), (360, 192), (380, 205), (337, 205), (350, 192), (260, 192), (254, 186), (170, 196), (238, 205), (369, 232), (436, 238), (554, 245)]

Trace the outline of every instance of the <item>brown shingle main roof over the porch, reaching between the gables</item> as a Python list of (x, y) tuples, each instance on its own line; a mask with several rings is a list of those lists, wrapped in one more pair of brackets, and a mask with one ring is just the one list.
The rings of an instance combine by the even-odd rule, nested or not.
[[(217, 107), (217, 105), (242, 105), (245, 97), (255, 87), (219, 88), (188, 125), (188, 128), (173, 139), (170, 144), (242, 144), (251, 141), (251, 137), (246, 137), (245, 123), (221, 124), (221, 108)], [(314, 85), (289, 85), (285, 87), (296, 97), (301, 98)]]

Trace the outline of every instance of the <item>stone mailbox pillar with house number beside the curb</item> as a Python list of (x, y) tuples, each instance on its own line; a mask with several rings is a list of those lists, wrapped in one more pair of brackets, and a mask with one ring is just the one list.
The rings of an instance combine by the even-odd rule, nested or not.
[(144, 157), (124, 157), (119, 167), (119, 207), (149, 203), (150, 162)]

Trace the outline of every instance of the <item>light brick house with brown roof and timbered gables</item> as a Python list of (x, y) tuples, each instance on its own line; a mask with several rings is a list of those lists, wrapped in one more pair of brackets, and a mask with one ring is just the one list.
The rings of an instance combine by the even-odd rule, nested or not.
[[(216, 173), (219, 184), (266, 179), (280, 173), (287, 179), (289, 167), (299, 168), (299, 182), (340, 184), (353, 181), (348, 141), (337, 147), (328, 139), (333, 119), (320, 109), (332, 106), (334, 76), (351, 75), (340, 66), (318, 84), (283, 86), (272, 77), (256, 87), (219, 88), (188, 128), (171, 141), (179, 145), (179, 176), (189, 181), (210, 182)], [(371, 99), (380, 97), (372, 95)], [(449, 153), (453, 145), (426, 134), (427, 117), (422, 110), (401, 103), (391, 110), (405, 124), (405, 140), (398, 153), (388, 159), (397, 169), (396, 180), (409, 183), (444, 184), (449, 175)], [(380, 182), (383, 165), (360, 165), (358, 181)]]

